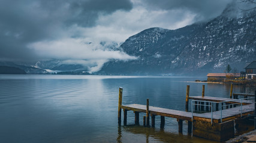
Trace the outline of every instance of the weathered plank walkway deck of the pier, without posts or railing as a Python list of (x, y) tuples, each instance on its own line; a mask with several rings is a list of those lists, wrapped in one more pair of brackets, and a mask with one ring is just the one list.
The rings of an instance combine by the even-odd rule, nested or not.
[[(121, 108), (124, 111), (146, 113), (146, 105), (129, 104), (129, 105), (122, 105)], [(252, 114), (253, 111), (254, 111), (254, 107), (252, 108), (252, 105), (243, 105), (242, 112), (240, 111), (240, 107), (233, 107), (233, 108), (222, 110), (222, 122), (236, 119), (237, 117), (241, 116), (241, 113), (242, 113), (242, 116)], [(171, 110), (167, 108), (149, 106), (149, 114), (152, 116), (171, 117), (171, 118), (176, 118), (177, 120), (187, 120), (189, 122), (192, 122), (191, 112), (186, 112), (186, 111)], [(213, 111), (213, 116), (211, 115), (210, 112), (209, 113), (193, 113), (193, 120), (211, 122), (211, 118), (213, 119), (214, 123), (221, 123), (221, 111), (220, 110)], [(124, 119), (127, 120), (127, 117), (124, 117)], [(124, 121), (124, 122), (127, 122), (127, 121)], [(152, 123), (152, 125), (155, 125), (155, 123)]]

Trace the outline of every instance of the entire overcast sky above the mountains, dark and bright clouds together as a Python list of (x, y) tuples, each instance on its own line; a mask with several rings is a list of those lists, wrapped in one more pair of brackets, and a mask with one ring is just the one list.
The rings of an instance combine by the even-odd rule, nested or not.
[[(99, 43), (150, 27), (177, 29), (222, 13), (231, 0), (0, 0), (0, 60), (131, 59)], [(90, 43), (91, 42), (91, 43)]]

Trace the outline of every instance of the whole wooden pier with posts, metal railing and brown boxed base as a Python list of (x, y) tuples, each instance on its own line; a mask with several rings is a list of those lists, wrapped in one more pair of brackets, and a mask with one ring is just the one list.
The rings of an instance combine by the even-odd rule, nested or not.
[[(232, 89), (233, 87), (231, 85), (231, 97)], [(188, 133), (192, 133), (193, 136), (211, 139), (213, 141), (227, 141), (228, 139), (233, 138), (234, 119), (253, 114), (255, 110), (255, 106), (250, 102), (250, 100), (204, 97), (204, 85), (202, 96), (197, 97), (189, 97), (189, 85), (187, 86), (185, 104), (186, 111), (149, 106), (149, 99), (147, 99), (146, 105), (122, 105), (122, 92), (123, 89), (119, 88), (119, 125), (121, 125), (122, 110), (124, 111), (124, 125), (127, 125), (127, 111), (134, 112), (135, 125), (138, 125), (139, 123), (139, 113), (146, 113), (146, 116), (143, 117), (143, 125), (149, 127), (151, 117), (152, 128), (155, 127), (155, 116), (161, 116), (161, 126), (165, 123), (165, 117), (171, 117), (177, 119), (179, 132), (182, 132), (183, 121), (186, 120), (188, 122)], [(191, 100), (191, 112), (188, 112), (189, 100)], [(193, 113), (193, 109), (206, 112)]]

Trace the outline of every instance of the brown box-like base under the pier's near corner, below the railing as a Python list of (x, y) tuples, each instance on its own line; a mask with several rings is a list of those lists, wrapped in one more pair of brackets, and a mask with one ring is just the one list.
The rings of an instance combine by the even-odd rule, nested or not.
[(222, 123), (203, 122), (194, 120), (193, 136), (210, 139), (213, 141), (227, 141), (234, 138), (234, 120)]

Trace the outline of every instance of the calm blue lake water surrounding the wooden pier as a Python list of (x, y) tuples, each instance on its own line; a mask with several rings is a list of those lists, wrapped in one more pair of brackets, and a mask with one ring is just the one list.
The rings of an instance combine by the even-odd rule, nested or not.
[[(176, 119), (165, 118), (160, 129), (134, 125), (128, 111), (128, 126), (118, 126), (118, 92), (122, 104), (149, 104), (185, 111), (186, 85), (190, 96), (228, 98), (230, 85), (195, 83), (206, 77), (62, 76), (0, 74), (0, 142), (212, 142), (178, 133)], [(234, 86), (234, 92), (244, 90)], [(190, 104), (190, 103), (189, 103)], [(123, 116), (122, 116), (123, 119)], [(122, 120), (123, 121), (123, 120)]]

